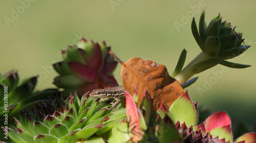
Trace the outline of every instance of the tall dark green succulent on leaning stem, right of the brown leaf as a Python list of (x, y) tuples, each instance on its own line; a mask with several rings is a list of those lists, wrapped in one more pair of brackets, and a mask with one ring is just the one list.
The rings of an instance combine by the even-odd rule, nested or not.
[[(186, 58), (186, 51), (183, 50), (172, 75), (180, 84), (185, 83), (194, 74), (200, 73), (218, 64), (230, 68), (250, 67), (250, 65), (226, 61), (242, 54), (250, 47), (241, 45), (244, 41), (244, 39), (242, 39), (242, 33), (234, 31), (235, 27), (232, 27), (230, 22), (222, 21), (220, 14), (213, 18), (208, 26), (204, 21), (204, 16), (205, 9), (200, 17), (199, 30), (195, 18), (193, 18), (191, 23), (193, 36), (202, 52), (182, 70)], [(189, 83), (195, 82), (196, 79), (197, 78), (190, 80)]]

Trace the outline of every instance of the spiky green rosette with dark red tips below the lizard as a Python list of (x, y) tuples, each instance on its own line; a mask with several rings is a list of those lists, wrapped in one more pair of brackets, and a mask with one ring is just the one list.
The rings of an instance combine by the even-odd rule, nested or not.
[[(110, 112), (109, 102), (96, 102), (85, 94), (75, 94), (63, 106), (58, 98), (39, 102), (31, 111), (20, 111), (16, 129), (8, 128), (16, 142), (86, 142), (108, 139), (108, 132), (125, 118), (125, 108)], [(56, 107), (56, 110), (53, 110)]]

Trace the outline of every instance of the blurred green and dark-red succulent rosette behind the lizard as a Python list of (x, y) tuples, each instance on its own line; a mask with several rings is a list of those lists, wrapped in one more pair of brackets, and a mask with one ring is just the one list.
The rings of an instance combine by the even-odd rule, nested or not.
[(94, 43), (82, 38), (77, 45), (62, 51), (63, 61), (53, 64), (59, 76), (54, 84), (66, 94), (77, 91), (79, 97), (94, 89), (118, 86), (112, 75), (117, 62), (108, 54), (105, 41)]

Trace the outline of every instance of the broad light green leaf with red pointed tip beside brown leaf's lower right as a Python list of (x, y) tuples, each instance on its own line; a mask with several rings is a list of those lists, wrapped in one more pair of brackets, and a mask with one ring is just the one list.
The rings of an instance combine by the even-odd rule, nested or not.
[(197, 112), (193, 102), (187, 94), (187, 91), (180, 96), (169, 108), (172, 114), (172, 120), (176, 123), (180, 121), (181, 123), (186, 122), (186, 125), (196, 125)]

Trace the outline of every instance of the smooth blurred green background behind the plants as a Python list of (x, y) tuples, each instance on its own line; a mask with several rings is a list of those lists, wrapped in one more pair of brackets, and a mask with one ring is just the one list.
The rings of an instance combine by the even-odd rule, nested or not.
[[(55, 87), (52, 82), (57, 74), (51, 64), (61, 61), (61, 49), (85, 37), (105, 40), (122, 61), (134, 57), (156, 61), (172, 74), (183, 48), (187, 50), (185, 65), (200, 53), (190, 23), (195, 16), (198, 24), (206, 7), (207, 24), (220, 12), (223, 20), (243, 33), (252, 47), (235, 60), (252, 67), (229, 68), (200, 95), (198, 89), (215, 76), (213, 72), (221, 70), (221, 65), (215, 66), (200, 73), (197, 82), (185, 90), (212, 113), (225, 110), (232, 120), (252, 125), (256, 119), (255, 5), (255, 1), (238, 0), (1, 1), (0, 71), (18, 70), (21, 79), (39, 75), (38, 90)], [(182, 25), (177, 28), (175, 23)], [(118, 65), (114, 75), (122, 84), (120, 70)]]

